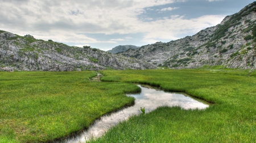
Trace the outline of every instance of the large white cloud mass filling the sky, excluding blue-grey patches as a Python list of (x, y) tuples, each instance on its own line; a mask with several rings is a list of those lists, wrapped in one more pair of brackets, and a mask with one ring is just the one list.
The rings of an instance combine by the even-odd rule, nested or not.
[[(138, 18), (145, 12), (145, 8), (177, 1), (179, 0), (77, 0), (76, 2), (72, 0), (0, 0), (0, 29), (20, 35), (32, 34), (35, 38), (43, 40), (52, 39), (77, 45), (115, 44), (124, 39), (102, 41), (86, 34), (143, 33), (143, 41), (155, 41), (157, 38), (173, 40), (177, 38), (176, 34), (197, 32), (220, 23), (224, 18), (216, 15), (197, 19), (184, 19), (183, 16), (174, 15), (171, 18), (155, 21), (142, 21)], [(167, 7), (159, 12), (177, 8), (179, 7)], [(131, 37), (125, 39), (131, 39)]]

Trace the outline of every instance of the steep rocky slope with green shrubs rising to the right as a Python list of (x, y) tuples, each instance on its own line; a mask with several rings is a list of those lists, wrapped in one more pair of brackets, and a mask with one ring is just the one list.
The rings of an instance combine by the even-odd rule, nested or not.
[(169, 68), (222, 65), (256, 69), (256, 2), (193, 36), (118, 53)]

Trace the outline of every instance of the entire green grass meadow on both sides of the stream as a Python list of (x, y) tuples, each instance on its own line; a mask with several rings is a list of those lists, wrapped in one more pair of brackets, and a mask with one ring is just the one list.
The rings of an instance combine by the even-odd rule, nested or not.
[(256, 72), (230, 69), (0, 72), (0, 142), (46, 142), (134, 102), (131, 83), (185, 92), (205, 110), (159, 107), (89, 142), (256, 142)]

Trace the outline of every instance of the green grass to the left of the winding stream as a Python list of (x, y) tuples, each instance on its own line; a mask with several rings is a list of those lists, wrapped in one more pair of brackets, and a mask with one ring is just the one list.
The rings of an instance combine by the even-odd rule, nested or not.
[(0, 72), (0, 142), (42, 142), (88, 127), (134, 102), (127, 83), (91, 82), (95, 71)]

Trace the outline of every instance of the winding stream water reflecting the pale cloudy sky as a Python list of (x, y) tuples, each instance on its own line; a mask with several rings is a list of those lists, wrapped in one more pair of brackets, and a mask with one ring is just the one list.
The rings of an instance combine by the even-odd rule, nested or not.
[(142, 92), (140, 94), (129, 94), (135, 98), (135, 105), (127, 107), (126, 109), (114, 112), (111, 115), (102, 116), (100, 120), (97, 120), (89, 129), (80, 133), (76, 137), (68, 138), (61, 142), (85, 142), (92, 136), (98, 137), (106, 132), (110, 127), (115, 124), (126, 120), (129, 116), (139, 114), (141, 107), (145, 107), (146, 113), (155, 110), (159, 106), (180, 106), (183, 109), (205, 109), (208, 105), (196, 101), (195, 99), (184, 96), (180, 93), (168, 93), (162, 90), (155, 90), (150, 88), (144, 88), (141, 85)]

